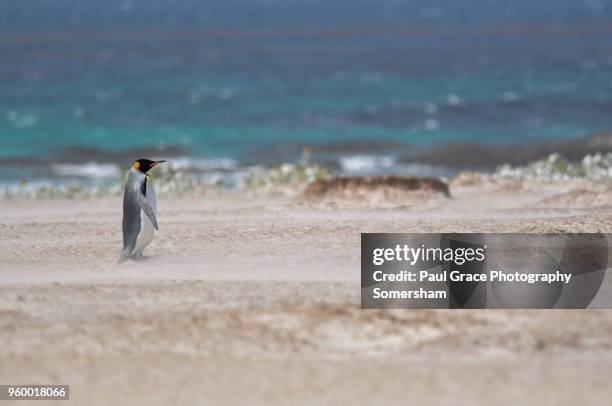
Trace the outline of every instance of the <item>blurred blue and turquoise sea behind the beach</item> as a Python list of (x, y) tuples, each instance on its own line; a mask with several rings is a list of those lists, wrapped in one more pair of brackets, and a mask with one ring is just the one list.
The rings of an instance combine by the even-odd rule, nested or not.
[(610, 128), (612, 1), (0, 7), (3, 178), (24, 162), (138, 148), (257, 163), (294, 159), (303, 145), (367, 155), (378, 144), (530, 143)]

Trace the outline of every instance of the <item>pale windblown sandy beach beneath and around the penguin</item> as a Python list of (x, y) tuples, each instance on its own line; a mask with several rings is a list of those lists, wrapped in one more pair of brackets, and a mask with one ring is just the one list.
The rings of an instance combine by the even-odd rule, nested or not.
[(451, 194), (162, 196), (124, 265), (121, 198), (0, 201), (0, 383), (87, 405), (608, 403), (610, 311), (360, 310), (361, 232), (612, 232), (584, 185)]

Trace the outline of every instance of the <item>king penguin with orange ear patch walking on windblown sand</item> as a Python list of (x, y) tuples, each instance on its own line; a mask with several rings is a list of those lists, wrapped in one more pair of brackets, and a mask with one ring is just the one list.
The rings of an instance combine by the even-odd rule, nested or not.
[(119, 262), (139, 258), (157, 227), (157, 198), (149, 170), (166, 161), (134, 161), (123, 194), (123, 251)]

